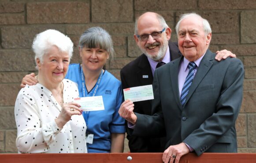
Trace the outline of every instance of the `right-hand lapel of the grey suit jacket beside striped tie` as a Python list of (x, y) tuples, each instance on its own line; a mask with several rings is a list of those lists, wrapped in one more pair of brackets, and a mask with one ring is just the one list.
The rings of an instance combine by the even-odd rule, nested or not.
[(200, 82), (203, 80), (204, 76), (207, 74), (207, 72), (210, 70), (212, 63), (211, 61), (214, 60), (215, 55), (211, 53), (210, 50), (207, 50), (203, 59), (200, 62), (200, 65), (197, 69), (197, 73), (193, 79), (192, 85), (189, 88), (189, 94), (186, 96), (186, 102), (184, 106), (186, 106), (186, 103), (189, 101), (189, 98), (192, 96), (193, 92), (197, 89), (197, 86), (200, 84)]

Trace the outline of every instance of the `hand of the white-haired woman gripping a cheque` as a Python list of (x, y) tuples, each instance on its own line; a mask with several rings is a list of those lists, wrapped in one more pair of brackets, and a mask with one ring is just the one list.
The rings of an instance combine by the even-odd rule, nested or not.
[(71, 119), (72, 115), (81, 115), (83, 110), (81, 110), (80, 107), (81, 106), (78, 103), (64, 103), (59, 116), (55, 119), (58, 128), (63, 128), (63, 126)]

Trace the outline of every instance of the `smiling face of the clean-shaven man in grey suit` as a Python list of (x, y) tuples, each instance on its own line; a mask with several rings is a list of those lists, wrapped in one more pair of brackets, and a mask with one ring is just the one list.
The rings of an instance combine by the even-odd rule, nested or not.
[(187, 60), (195, 61), (204, 55), (211, 41), (211, 33), (205, 35), (202, 18), (184, 18), (178, 29), (178, 47)]

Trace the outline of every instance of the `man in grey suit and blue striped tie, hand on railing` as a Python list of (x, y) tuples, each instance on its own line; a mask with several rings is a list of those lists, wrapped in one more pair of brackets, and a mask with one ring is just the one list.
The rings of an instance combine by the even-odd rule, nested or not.
[(239, 59), (215, 60), (208, 50), (211, 27), (195, 13), (184, 14), (176, 25), (183, 57), (156, 69), (152, 116), (134, 113), (130, 100), (119, 114), (133, 135), (166, 134), (163, 162), (178, 163), (196, 152), (237, 152), (235, 121), (242, 95), (244, 68)]

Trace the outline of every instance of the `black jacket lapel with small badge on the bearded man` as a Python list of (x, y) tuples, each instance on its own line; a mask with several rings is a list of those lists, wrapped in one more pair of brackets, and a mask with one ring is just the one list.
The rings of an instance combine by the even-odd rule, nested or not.
[(153, 75), (148, 58), (143, 54), (138, 65), (137, 78), (141, 85), (152, 85)]

